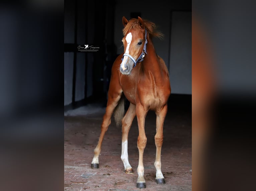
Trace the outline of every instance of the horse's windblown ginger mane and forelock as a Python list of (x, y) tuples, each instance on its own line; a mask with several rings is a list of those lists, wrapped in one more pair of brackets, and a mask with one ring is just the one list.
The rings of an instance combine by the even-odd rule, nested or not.
[[(158, 37), (160, 39), (163, 39), (164, 35), (160, 31), (156, 31), (155, 23), (144, 20), (144, 19), (143, 19), (143, 23), (150, 37)], [(127, 25), (123, 28), (123, 35), (126, 36), (128, 32), (131, 30), (136, 30), (138, 32), (144, 31), (144, 29), (142, 29), (140, 26), (139, 20), (135, 18), (130, 19)]]

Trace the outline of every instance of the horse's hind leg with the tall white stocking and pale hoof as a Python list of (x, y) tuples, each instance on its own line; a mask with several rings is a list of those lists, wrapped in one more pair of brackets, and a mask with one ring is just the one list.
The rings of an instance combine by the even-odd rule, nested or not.
[(124, 171), (127, 174), (133, 174), (133, 169), (128, 160), (128, 133), (132, 125), (132, 121), (136, 115), (136, 106), (130, 103), (130, 106), (122, 119), (122, 154), (121, 159), (124, 163)]

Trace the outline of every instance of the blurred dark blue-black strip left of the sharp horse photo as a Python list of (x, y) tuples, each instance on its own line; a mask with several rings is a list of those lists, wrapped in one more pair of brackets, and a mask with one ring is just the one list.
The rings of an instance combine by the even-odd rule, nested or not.
[(63, 189), (63, 11), (0, 3), (0, 190)]

